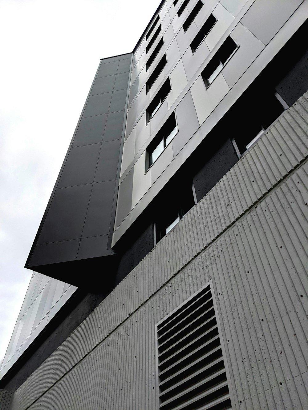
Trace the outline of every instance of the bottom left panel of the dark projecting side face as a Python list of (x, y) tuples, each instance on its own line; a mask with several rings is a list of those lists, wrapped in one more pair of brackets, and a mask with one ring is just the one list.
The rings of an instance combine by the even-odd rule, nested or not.
[(37, 245), (34, 248), (30, 265), (37, 266), (75, 260), (77, 257), (79, 242), (80, 239), (74, 239), (72, 241)]

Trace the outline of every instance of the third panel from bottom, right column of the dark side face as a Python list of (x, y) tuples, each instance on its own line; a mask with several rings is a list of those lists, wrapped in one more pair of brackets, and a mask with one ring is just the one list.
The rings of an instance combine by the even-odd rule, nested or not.
[(117, 178), (120, 145), (120, 139), (106, 141), (101, 144), (94, 182), (109, 181)]

